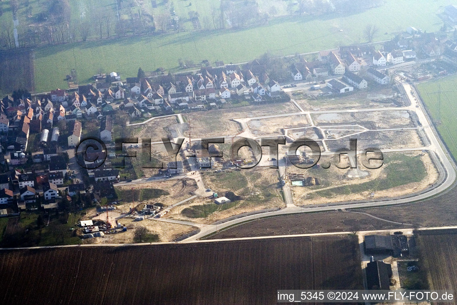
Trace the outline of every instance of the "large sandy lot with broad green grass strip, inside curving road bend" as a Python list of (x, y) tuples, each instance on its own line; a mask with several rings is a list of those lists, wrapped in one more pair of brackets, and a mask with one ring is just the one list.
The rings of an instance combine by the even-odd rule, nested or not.
[[(331, 164), (335, 162), (333, 160)], [(438, 179), (436, 168), (427, 154), (389, 153), (384, 154), (383, 162), (381, 168), (372, 170), (360, 164), (357, 169), (339, 169), (334, 165), (329, 169), (288, 166), (287, 173), (315, 177), (319, 182), (314, 186), (292, 187), (294, 203), (308, 205), (397, 197), (419, 192)]]

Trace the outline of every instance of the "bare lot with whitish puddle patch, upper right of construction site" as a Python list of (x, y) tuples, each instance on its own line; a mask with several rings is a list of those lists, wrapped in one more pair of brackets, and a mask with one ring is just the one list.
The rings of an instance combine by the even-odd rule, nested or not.
[(415, 127), (407, 110), (331, 112), (311, 114), (316, 125), (359, 124), (367, 129)]

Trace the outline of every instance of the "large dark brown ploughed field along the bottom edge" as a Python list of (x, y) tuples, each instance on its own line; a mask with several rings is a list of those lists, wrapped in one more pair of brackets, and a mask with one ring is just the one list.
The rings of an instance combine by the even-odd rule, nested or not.
[(354, 235), (1, 251), (0, 276), (13, 305), (276, 304), (277, 289), (363, 289)]

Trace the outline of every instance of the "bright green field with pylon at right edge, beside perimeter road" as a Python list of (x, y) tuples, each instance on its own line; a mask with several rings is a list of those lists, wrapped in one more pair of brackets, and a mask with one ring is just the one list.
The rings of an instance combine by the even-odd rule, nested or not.
[[(454, 159), (457, 159), (457, 75), (448, 76), (441, 80), (429, 81), (417, 85), (420, 96), (425, 102), (436, 128), (446, 142)], [(438, 116), (439, 87), (441, 94), (440, 115)], [(435, 93), (432, 93), (435, 92)]]

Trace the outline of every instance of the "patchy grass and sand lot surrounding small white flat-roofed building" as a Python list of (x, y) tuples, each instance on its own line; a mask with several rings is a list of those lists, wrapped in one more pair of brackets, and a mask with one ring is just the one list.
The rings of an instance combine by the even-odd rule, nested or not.
[(165, 217), (211, 224), (233, 215), (285, 206), (276, 169), (255, 167), (232, 172), (207, 172), (203, 181), (219, 197), (232, 192), (239, 198), (224, 204), (216, 204), (213, 199), (195, 198), (172, 209)]

